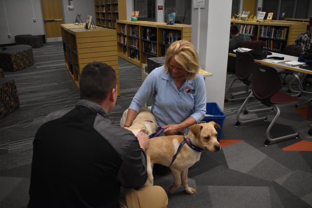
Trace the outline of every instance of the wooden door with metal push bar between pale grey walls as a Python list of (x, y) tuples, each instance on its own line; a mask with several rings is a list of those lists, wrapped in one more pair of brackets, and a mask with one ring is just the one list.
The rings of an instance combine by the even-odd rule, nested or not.
[(64, 23), (62, 2), (61, 0), (41, 0), (41, 5), (46, 38), (49, 42), (48, 38), (53, 40), (62, 36), (60, 29), (60, 25)]

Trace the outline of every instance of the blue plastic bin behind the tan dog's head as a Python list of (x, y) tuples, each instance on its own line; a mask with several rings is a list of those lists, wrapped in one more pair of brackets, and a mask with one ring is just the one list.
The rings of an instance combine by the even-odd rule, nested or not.
[(217, 140), (219, 142), (220, 136), (221, 136), (221, 131), (222, 131), (223, 120), (225, 119), (225, 115), (217, 103), (207, 103), (206, 104), (206, 111), (207, 111), (206, 114), (211, 115), (211, 116), (205, 116), (204, 119), (202, 119), (202, 121), (199, 123), (208, 123), (210, 121), (214, 121), (215, 123), (219, 124), (221, 127), (220, 130), (219, 130), (219, 128), (217, 128), (217, 133), (218, 133)]

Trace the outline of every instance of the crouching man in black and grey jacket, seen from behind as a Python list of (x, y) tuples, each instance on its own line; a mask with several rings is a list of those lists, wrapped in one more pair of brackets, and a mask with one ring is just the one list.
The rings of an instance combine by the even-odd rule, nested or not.
[(142, 187), (148, 136), (135, 137), (108, 116), (117, 99), (115, 71), (92, 62), (79, 87), (75, 108), (49, 114), (36, 133), (28, 208), (167, 207), (162, 187)]

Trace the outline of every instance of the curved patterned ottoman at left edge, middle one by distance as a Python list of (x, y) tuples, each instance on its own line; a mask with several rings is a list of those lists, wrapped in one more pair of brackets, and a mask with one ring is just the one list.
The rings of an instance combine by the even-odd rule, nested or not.
[(18, 71), (34, 64), (32, 46), (7, 46), (0, 51), (0, 68), (6, 71)]

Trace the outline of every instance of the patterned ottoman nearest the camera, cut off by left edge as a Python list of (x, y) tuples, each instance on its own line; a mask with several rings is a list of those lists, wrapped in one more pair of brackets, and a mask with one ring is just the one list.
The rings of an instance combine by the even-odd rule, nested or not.
[[(4, 77), (0, 69), (0, 77)], [(0, 78), (0, 119), (19, 108), (19, 99), (14, 80)]]

